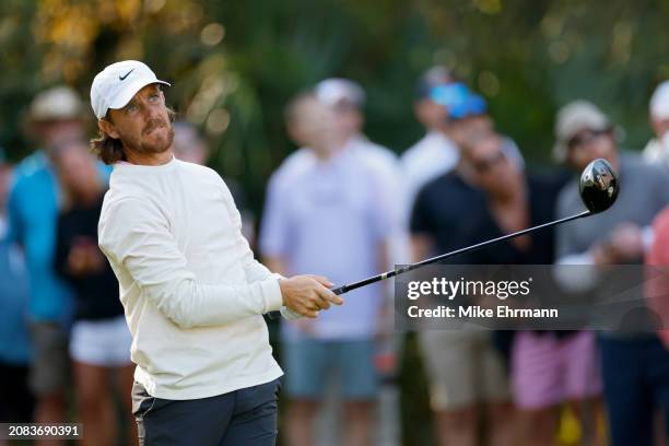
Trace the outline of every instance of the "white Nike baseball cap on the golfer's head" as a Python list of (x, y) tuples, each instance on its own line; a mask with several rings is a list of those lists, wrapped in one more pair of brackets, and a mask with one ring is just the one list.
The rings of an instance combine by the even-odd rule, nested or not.
[(153, 71), (137, 60), (124, 60), (111, 63), (97, 73), (91, 85), (91, 106), (97, 119), (107, 116), (107, 110), (122, 108), (132, 96), (144, 86), (160, 83), (169, 86), (169, 83), (160, 81)]

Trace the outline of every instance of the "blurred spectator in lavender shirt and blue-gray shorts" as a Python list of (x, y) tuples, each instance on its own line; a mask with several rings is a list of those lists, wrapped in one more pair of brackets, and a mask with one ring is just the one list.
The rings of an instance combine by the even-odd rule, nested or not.
[[(300, 168), (292, 161), (283, 164), (270, 178), (260, 248), (275, 271), (315, 269), (349, 283), (385, 268), (391, 218), (377, 171), (362, 162), (364, 149), (345, 144), (334, 114), (312, 92), (297, 95), (286, 108), (289, 134), (303, 144), (296, 153), (310, 156)], [(339, 379), (334, 394), (345, 413), (341, 443), (371, 443), (379, 390), (374, 355), (383, 326), (382, 293), (378, 283), (365, 286), (318, 320), (282, 325), (287, 444), (324, 444), (325, 438), (313, 437), (314, 415), (328, 407), (332, 378)], [(332, 424), (325, 434), (318, 431), (319, 437), (336, 437), (337, 430), (327, 432)]]

